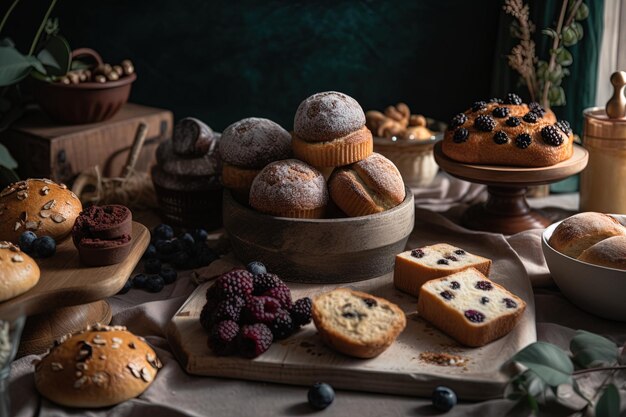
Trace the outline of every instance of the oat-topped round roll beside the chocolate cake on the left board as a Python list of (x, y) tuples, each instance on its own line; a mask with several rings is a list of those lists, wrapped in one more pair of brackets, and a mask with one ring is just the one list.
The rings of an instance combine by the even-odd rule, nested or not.
[(0, 192), (0, 240), (17, 243), (27, 230), (62, 240), (71, 231), (83, 206), (64, 184), (27, 179)]

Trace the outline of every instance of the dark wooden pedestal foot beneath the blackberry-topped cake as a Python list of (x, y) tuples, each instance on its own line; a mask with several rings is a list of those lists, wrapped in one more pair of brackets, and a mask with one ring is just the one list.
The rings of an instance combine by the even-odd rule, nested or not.
[(530, 208), (525, 187), (487, 187), (485, 203), (470, 207), (461, 219), (470, 229), (512, 235), (528, 229), (543, 229), (550, 220)]

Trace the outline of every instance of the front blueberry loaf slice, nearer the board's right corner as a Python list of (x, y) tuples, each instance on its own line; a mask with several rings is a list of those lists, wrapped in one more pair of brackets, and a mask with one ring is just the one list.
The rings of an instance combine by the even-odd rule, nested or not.
[(474, 268), (422, 285), (417, 312), (466, 346), (483, 346), (509, 333), (526, 309), (521, 298)]

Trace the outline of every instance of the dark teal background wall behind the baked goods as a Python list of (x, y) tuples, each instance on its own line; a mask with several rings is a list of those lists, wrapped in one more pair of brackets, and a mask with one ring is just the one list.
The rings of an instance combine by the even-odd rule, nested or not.
[[(21, 43), (42, 3), (22, 0), (12, 18)], [(323, 90), (366, 110), (402, 100), (443, 120), (489, 97), (500, 8), (500, 0), (59, 0), (53, 16), (72, 47), (135, 62), (136, 102), (218, 130), (248, 116), (290, 129), (300, 101)]]

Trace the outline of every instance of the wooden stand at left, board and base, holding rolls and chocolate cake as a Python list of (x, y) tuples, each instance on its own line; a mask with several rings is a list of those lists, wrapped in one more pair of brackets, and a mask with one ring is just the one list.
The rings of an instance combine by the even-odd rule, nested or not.
[(131, 252), (119, 264), (82, 265), (71, 238), (59, 243), (51, 258), (37, 259), (41, 270), (37, 285), (0, 303), (0, 316), (16, 304), (21, 304), (28, 316), (18, 356), (43, 353), (55, 339), (89, 324), (108, 324), (111, 307), (103, 299), (124, 286), (149, 243), (148, 229), (133, 222)]

